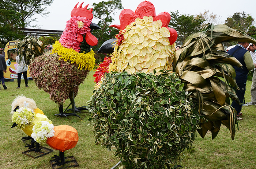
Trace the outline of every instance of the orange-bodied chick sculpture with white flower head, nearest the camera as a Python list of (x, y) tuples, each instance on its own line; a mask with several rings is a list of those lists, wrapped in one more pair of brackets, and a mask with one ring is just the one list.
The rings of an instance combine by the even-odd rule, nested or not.
[(31, 135), (40, 144), (48, 144), (51, 148), (60, 151), (60, 156), (54, 156), (54, 165), (64, 165), (68, 163), (65, 161), (64, 152), (72, 149), (78, 142), (78, 132), (72, 126), (60, 125), (53, 126), (47, 121), (37, 122), (33, 127)]

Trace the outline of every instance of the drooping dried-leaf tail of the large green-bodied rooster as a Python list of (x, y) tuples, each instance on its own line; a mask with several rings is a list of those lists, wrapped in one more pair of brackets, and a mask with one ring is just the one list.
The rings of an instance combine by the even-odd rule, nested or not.
[(234, 139), (236, 111), (229, 104), (230, 98), (238, 98), (233, 66), (242, 64), (226, 53), (222, 43), (230, 41), (256, 43), (251, 36), (226, 25), (209, 24), (205, 30), (190, 35), (174, 55), (174, 71), (186, 82), (186, 90), (193, 93), (193, 99), (201, 104), (200, 112), (205, 118), (198, 131), (202, 137), (210, 130), (212, 139), (215, 138), (223, 124)]

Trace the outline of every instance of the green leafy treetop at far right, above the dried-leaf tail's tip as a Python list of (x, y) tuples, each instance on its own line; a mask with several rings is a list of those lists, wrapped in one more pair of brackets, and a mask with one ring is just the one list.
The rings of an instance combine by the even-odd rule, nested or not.
[(251, 15), (243, 12), (236, 12), (233, 16), (226, 19), (225, 24), (236, 30), (247, 32), (249, 28), (254, 24), (254, 19)]

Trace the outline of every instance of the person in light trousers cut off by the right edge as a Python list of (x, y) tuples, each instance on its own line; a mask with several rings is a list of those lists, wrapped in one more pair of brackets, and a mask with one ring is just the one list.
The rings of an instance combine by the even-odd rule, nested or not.
[[(256, 63), (256, 45), (250, 43), (248, 48), (252, 56), (253, 63)], [(256, 105), (256, 68), (254, 69), (252, 76), (252, 86), (251, 86), (251, 102), (248, 105)]]

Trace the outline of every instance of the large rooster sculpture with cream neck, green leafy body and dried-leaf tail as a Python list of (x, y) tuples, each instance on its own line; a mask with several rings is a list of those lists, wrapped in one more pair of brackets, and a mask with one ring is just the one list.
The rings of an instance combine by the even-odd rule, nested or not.
[[(94, 134), (115, 147), (124, 168), (172, 168), (191, 148), (195, 132), (214, 139), (221, 124), (234, 139), (237, 100), (233, 87), (241, 66), (222, 42), (256, 40), (226, 25), (211, 25), (189, 36), (176, 52), (170, 15), (155, 14), (149, 1), (124, 9), (111, 62), (99, 65), (99, 83), (89, 102)], [(174, 55), (175, 54), (175, 55)], [(110, 63), (106, 65), (107, 63)], [(107, 68), (106, 68), (107, 67)], [(102, 77), (103, 73), (106, 72)]]

